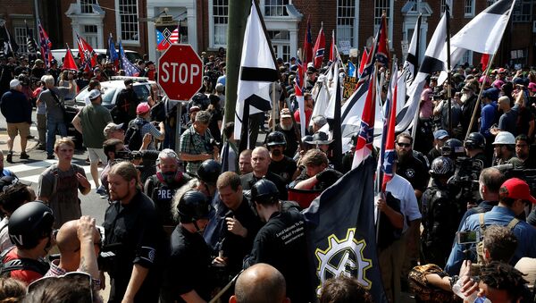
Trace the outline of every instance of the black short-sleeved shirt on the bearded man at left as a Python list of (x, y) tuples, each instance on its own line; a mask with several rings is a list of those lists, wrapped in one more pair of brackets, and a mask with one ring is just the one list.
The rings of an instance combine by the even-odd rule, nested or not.
[(105, 245), (113, 244), (115, 253), (112, 268), (115, 291), (112, 302), (122, 299), (130, 281), (134, 264), (149, 268), (149, 274), (138, 290), (137, 302), (157, 302), (160, 283), (159, 265), (167, 257), (165, 235), (158, 220), (155, 204), (138, 190), (127, 205), (114, 201), (105, 212)]

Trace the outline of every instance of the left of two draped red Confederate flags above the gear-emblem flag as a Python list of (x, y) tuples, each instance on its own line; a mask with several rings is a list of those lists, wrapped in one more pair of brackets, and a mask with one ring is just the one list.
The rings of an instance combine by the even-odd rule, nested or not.
[(361, 164), (364, 159), (373, 154), (374, 118), (376, 117), (376, 76), (372, 77), (364, 101), (361, 125), (357, 134), (356, 153), (352, 168)]

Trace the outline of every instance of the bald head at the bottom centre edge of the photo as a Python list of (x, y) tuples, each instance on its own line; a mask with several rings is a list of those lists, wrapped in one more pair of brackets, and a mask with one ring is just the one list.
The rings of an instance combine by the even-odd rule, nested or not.
[(283, 275), (272, 265), (259, 263), (247, 268), (239, 275), (235, 294), (230, 302), (274, 303), (288, 302)]

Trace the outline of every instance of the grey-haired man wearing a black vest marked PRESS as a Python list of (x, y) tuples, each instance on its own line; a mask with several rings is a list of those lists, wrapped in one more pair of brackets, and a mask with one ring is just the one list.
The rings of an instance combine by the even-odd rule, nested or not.
[(155, 202), (163, 225), (175, 225), (170, 213), (173, 195), (192, 178), (187, 173), (180, 172), (179, 156), (169, 148), (158, 154), (156, 168), (158, 171), (147, 178), (144, 192)]

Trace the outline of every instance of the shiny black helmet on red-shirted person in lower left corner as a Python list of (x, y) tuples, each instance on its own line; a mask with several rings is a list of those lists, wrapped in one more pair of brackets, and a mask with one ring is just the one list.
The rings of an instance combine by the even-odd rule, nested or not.
[(53, 223), (52, 209), (44, 203), (23, 204), (9, 218), (9, 238), (19, 248), (35, 248), (40, 239), (52, 233)]

